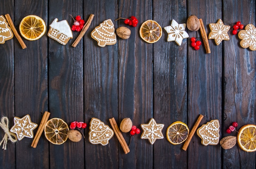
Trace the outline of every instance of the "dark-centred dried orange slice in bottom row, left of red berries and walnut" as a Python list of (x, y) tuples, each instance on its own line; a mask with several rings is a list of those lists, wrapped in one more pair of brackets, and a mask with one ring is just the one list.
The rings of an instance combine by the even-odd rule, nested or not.
[(45, 125), (45, 137), (54, 145), (61, 145), (67, 140), (68, 125), (60, 118), (52, 118)]

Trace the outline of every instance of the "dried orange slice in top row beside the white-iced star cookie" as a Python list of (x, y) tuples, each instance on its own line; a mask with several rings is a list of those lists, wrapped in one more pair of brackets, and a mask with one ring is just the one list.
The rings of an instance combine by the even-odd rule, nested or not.
[(147, 20), (141, 24), (139, 35), (146, 42), (155, 43), (162, 36), (162, 28), (154, 20)]

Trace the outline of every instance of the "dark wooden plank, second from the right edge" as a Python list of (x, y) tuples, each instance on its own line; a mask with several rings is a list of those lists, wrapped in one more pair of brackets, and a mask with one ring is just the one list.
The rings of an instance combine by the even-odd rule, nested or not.
[[(209, 23), (216, 23), (221, 18), (221, 0), (188, 1), (187, 16), (194, 14), (202, 18), (207, 35)], [(224, 21), (225, 22), (225, 21)], [(190, 38), (196, 32), (188, 31)], [(198, 31), (198, 35), (200, 32)], [(202, 41), (202, 39), (201, 39)], [(222, 44), (225, 42), (222, 41)], [(191, 129), (199, 114), (204, 115), (201, 125), (218, 119), (222, 122), (222, 44), (217, 46), (209, 40), (210, 54), (206, 54), (204, 46), (195, 51), (189, 39), (188, 47), (188, 126)], [(201, 126), (200, 125), (200, 126)], [(221, 136), (221, 131), (220, 131)], [(220, 168), (220, 146), (204, 146), (195, 134), (188, 147), (188, 168)]]

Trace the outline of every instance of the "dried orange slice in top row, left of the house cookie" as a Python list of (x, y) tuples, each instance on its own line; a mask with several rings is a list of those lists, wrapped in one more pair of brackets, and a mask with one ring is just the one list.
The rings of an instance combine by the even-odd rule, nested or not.
[(29, 15), (21, 20), (19, 29), (25, 39), (38, 40), (45, 34), (45, 21), (39, 16)]

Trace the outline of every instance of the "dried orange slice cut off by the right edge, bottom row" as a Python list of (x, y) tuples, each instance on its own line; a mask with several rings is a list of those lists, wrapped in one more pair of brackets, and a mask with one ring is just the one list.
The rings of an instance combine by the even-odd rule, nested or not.
[(256, 125), (244, 125), (238, 131), (237, 142), (244, 151), (256, 151)]

